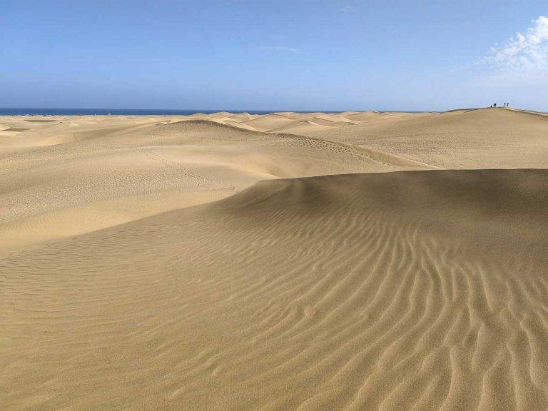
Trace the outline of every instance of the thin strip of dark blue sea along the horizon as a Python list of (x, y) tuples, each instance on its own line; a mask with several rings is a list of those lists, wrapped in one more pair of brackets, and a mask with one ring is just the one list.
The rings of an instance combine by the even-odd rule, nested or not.
[[(245, 110), (151, 110), (141, 108), (2, 108), (0, 116), (190, 116), (196, 113), (243, 113)], [(294, 111), (294, 110), (293, 110)], [(268, 114), (275, 111), (248, 110), (250, 114)], [(295, 113), (314, 113), (315, 111), (295, 111)], [(340, 113), (341, 111), (323, 111), (323, 113)]]

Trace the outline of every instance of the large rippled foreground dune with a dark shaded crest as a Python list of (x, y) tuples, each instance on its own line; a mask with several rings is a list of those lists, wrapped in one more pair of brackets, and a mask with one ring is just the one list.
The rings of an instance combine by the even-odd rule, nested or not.
[(6, 409), (545, 410), (548, 171), (264, 181), (0, 260)]

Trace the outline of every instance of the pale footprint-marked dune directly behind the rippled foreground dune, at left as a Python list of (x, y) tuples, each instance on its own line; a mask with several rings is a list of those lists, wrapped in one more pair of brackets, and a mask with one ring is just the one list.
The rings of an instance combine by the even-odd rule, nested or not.
[(425, 168), (216, 119), (53, 127), (0, 146), (10, 148), (0, 151), (0, 251), (213, 201), (270, 178)]

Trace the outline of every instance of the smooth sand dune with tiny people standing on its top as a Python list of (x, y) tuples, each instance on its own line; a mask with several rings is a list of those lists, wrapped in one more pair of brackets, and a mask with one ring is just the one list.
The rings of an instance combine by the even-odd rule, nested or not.
[(548, 116), (512, 109), (395, 117), (311, 133), (442, 168), (545, 168)]

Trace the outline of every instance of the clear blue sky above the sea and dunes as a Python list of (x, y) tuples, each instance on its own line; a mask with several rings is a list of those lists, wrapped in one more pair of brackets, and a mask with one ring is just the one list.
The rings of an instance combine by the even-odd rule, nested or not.
[(0, 0), (0, 106), (548, 111), (543, 1)]

